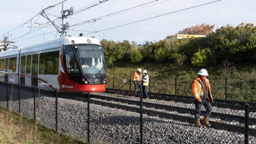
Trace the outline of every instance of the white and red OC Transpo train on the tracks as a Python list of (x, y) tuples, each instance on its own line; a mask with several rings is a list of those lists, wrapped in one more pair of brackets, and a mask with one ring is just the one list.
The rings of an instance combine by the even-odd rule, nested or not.
[(0, 81), (59, 92), (104, 92), (102, 45), (91, 37), (65, 36), (0, 52)]

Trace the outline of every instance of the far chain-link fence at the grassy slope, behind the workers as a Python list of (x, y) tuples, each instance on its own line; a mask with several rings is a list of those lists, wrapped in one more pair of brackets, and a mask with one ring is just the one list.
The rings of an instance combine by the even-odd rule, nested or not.
[[(195, 78), (186, 75), (177, 78), (167, 77), (164, 80), (150, 77), (148, 92), (190, 96)], [(256, 78), (253, 76), (241, 78), (212, 75), (207, 78), (211, 84), (211, 93), (216, 99), (256, 102)], [(134, 90), (134, 82), (131, 77), (108, 77), (106, 88)]]

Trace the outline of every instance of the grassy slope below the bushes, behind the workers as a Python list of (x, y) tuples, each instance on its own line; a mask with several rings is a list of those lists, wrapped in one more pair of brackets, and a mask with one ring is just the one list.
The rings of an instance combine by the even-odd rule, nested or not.
[[(132, 74), (138, 69), (147, 70), (150, 78), (150, 92), (191, 96), (192, 81), (198, 76), (201, 68), (183, 65), (180, 67), (168, 63), (144, 63), (140, 65), (116, 63), (115, 67), (107, 67), (107, 88), (118, 89), (124, 85), (123, 79), (132, 78)], [(206, 67), (208, 79), (211, 84), (211, 92), (214, 98), (225, 99), (225, 76), (219, 67)], [(227, 99), (238, 101), (256, 102), (256, 69), (254, 65), (237, 65), (236, 71), (230, 72), (227, 77)], [(154, 85), (155, 84), (155, 85)], [(129, 83), (121, 89), (129, 90)], [(131, 84), (131, 90), (134, 85)], [(148, 87), (149, 91), (149, 87)]]

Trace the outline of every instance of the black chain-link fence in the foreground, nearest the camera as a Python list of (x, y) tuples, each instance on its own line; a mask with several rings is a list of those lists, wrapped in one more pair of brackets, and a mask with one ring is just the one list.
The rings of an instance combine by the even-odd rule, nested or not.
[[(0, 83), (0, 90), (1, 107), (11, 104), (15, 112), (36, 118), (38, 88)], [(143, 99), (133, 90), (90, 94), (40, 90), (37, 118), (84, 143), (256, 143), (256, 103), (216, 99), (211, 103), (211, 126), (199, 128), (193, 97), (149, 94)], [(202, 106), (201, 124), (205, 113)]]

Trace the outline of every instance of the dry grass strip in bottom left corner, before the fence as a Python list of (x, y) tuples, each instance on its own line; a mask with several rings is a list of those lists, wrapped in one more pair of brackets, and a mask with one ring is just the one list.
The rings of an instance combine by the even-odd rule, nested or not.
[[(13, 120), (9, 123), (8, 111), (0, 107), (0, 143), (34, 143), (35, 124), (33, 120), (25, 117), (20, 119), (20, 115), (11, 113)], [(37, 126), (37, 141), (35, 143), (47, 144), (80, 144), (81, 141), (74, 140), (71, 136), (56, 134), (40, 124)]]

